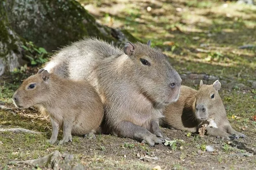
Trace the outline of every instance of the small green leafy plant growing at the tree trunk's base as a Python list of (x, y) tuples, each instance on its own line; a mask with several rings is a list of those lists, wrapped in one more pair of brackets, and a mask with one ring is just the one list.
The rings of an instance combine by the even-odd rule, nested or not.
[(29, 60), (31, 65), (43, 64), (47, 61), (47, 51), (43, 47), (36, 47), (33, 42), (26, 42), (26, 46), (21, 46), (27, 54), (25, 55)]

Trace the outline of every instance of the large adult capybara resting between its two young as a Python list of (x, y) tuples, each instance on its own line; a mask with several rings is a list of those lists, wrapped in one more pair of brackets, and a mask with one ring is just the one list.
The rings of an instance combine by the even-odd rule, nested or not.
[(167, 57), (148, 44), (121, 50), (84, 39), (60, 50), (45, 65), (50, 73), (88, 80), (104, 104), (103, 133), (147, 142), (169, 139), (159, 128), (164, 105), (179, 97), (181, 78)]

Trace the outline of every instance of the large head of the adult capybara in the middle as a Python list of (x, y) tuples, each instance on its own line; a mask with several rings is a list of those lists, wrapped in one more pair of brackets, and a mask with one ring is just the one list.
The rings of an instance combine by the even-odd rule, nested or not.
[(146, 44), (127, 42), (124, 53), (132, 60), (134, 82), (141, 93), (157, 104), (168, 104), (179, 98), (181, 78), (167, 57)]

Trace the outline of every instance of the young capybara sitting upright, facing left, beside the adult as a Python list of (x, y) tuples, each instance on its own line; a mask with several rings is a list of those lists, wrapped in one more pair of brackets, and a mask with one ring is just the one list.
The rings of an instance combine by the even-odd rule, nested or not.
[(52, 124), (51, 144), (60, 127), (63, 138), (58, 145), (72, 141), (71, 133), (95, 138), (104, 113), (99, 95), (87, 81), (63, 79), (43, 68), (24, 80), (12, 99), (18, 108), (45, 108)]

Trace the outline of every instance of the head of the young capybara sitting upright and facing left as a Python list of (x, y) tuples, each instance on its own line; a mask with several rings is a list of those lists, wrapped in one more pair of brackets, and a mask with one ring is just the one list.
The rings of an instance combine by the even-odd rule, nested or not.
[(18, 108), (28, 108), (44, 102), (49, 95), (50, 73), (41, 68), (37, 74), (24, 80), (15, 91), (12, 100)]

